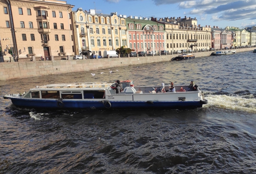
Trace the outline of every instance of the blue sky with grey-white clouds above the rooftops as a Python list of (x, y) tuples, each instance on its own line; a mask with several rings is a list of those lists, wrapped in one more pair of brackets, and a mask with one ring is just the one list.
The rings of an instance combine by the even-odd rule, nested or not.
[[(138, 17), (181, 17), (197, 19), (197, 24), (220, 28), (256, 25), (256, 0), (66, 0), (73, 10), (96, 9), (96, 13), (117, 12)], [(94, 3), (93, 3), (94, 2)], [(178, 2), (178, 3), (177, 3)], [(94, 6), (95, 5), (95, 6)]]

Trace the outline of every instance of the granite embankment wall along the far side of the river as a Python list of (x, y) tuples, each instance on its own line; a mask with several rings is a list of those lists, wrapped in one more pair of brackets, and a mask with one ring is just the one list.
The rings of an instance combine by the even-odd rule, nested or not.
[[(236, 49), (236, 52), (252, 51), (254, 48), (255, 47)], [(196, 57), (203, 57), (211, 55), (212, 52), (213, 51), (198, 52), (194, 54)], [(176, 56), (177, 54), (67, 61), (2, 62), (0, 63), (0, 80), (163, 62), (170, 61), (172, 57)]]

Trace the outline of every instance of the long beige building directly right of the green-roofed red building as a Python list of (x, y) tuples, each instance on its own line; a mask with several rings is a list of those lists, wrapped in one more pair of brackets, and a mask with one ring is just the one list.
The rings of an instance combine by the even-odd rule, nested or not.
[[(155, 19), (156, 20), (156, 19)], [(196, 18), (160, 18), (157, 22), (165, 25), (166, 51), (193, 51), (209, 49), (211, 46), (211, 27), (197, 26)]]

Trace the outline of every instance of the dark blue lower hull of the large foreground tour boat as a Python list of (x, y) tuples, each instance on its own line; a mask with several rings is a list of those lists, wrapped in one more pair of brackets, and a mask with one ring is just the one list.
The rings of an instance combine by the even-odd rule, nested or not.
[(138, 109), (138, 108), (197, 108), (207, 104), (207, 100), (200, 101), (85, 101), (85, 100), (36, 100), (10, 98), (12, 103), (21, 107), (55, 108), (55, 109)]

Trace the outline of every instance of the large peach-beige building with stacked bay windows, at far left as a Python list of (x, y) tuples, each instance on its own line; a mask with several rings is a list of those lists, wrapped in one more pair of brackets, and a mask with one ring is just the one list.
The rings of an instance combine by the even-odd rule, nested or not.
[(0, 6), (1, 45), (13, 47), (15, 57), (74, 55), (73, 5), (59, 0), (0, 0)]

